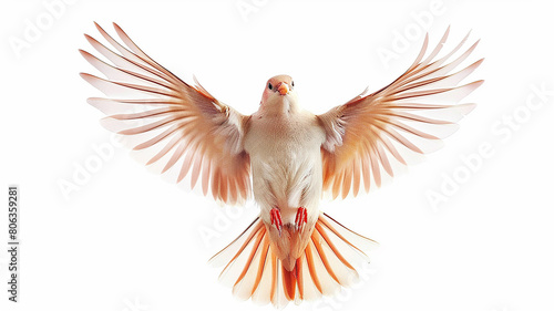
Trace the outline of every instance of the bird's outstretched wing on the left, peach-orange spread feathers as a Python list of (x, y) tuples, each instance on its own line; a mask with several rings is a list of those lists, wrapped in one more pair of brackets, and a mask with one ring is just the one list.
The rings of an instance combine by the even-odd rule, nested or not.
[[(236, 204), (250, 195), (250, 160), (243, 148), (248, 117), (218, 102), (197, 82), (192, 86), (147, 56), (114, 23), (123, 44), (99, 24), (98, 30), (119, 53), (85, 34), (109, 64), (80, 50), (106, 79), (81, 76), (110, 99), (89, 103), (107, 117), (103, 125), (130, 138), (134, 151), (147, 155), (146, 165), (185, 179), (204, 195)], [(171, 175), (171, 174), (170, 174)]]

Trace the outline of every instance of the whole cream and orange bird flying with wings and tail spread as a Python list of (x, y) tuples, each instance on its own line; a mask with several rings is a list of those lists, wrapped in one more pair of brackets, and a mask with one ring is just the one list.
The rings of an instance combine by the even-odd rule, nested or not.
[(461, 84), (484, 60), (458, 69), (479, 43), (462, 49), (470, 33), (438, 58), (449, 27), (427, 56), (425, 34), (408, 70), (376, 92), (317, 115), (281, 74), (265, 83), (258, 110), (243, 115), (196, 77), (187, 83), (151, 59), (116, 23), (121, 42), (94, 24), (111, 48), (85, 34), (104, 60), (79, 50), (104, 75), (80, 73), (106, 96), (88, 103), (175, 183), (227, 205), (255, 200), (259, 216), (211, 261), (225, 265), (219, 278), (236, 297), (277, 308), (350, 286), (377, 243), (322, 212), (322, 197), (367, 193), (409, 155), (434, 151), (475, 106), (460, 101), (483, 83)]

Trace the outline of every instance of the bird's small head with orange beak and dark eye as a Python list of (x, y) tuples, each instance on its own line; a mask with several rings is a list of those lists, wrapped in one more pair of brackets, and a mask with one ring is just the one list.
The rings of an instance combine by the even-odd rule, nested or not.
[(286, 112), (296, 110), (297, 96), (293, 77), (286, 74), (269, 79), (261, 95), (260, 110)]

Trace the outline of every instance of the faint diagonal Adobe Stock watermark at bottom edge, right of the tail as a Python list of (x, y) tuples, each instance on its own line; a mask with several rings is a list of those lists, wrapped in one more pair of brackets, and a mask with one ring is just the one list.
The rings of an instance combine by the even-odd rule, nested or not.
[(342, 288), (340, 292), (332, 297), (322, 297), (320, 300), (312, 304), (314, 311), (334, 311), (334, 310), (348, 310), (347, 302), (352, 299), (352, 292), (357, 289), (363, 287), (372, 276), (377, 273), (377, 270), (370, 267), (369, 262), (363, 262), (359, 271), (359, 281), (352, 283), (349, 288)]

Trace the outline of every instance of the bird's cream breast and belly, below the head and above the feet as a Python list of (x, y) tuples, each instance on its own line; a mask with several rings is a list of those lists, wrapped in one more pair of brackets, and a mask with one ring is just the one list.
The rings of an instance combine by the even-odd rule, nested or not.
[(294, 224), (298, 207), (315, 210), (319, 203), (324, 132), (315, 117), (306, 121), (291, 115), (250, 123), (245, 151), (250, 155), (254, 198), (264, 220), (270, 220), (269, 210), (279, 207), (284, 225)]

